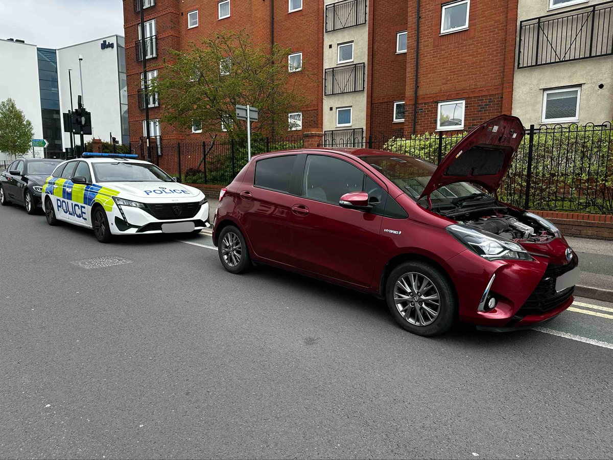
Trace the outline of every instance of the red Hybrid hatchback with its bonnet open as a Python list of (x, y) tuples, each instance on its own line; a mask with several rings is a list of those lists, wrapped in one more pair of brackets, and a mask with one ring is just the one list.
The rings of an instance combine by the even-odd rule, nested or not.
[(419, 335), (456, 319), (495, 331), (550, 320), (573, 302), (578, 259), (552, 223), (497, 199), (522, 137), (519, 118), (501, 115), (438, 167), (366, 148), (258, 155), (219, 196), (219, 259), (235, 274), (264, 263), (383, 297)]

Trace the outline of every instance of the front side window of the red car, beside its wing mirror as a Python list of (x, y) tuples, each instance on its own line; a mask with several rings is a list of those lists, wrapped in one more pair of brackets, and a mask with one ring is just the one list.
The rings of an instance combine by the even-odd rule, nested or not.
[(309, 155), (302, 179), (302, 195), (319, 201), (338, 204), (340, 197), (362, 191), (364, 172), (338, 158)]

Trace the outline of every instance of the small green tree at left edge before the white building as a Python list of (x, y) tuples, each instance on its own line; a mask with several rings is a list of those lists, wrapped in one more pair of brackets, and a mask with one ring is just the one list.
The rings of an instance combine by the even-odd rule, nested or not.
[(32, 122), (13, 99), (0, 102), (0, 151), (21, 158), (32, 148)]

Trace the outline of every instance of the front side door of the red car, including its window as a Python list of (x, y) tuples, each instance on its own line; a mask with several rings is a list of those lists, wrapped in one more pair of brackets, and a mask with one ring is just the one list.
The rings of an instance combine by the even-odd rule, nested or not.
[[(370, 286), (387, 197), (383, 184), (346, 159), (308, 155), (301, 189), (302, 197), (296, 197), (292, 207), (297, 216), (294, 240), (299, 267)], [(352, 191), (367, 191), (369, 201), (376, 203), (373, 212), (338, 204), (341, 196)]]

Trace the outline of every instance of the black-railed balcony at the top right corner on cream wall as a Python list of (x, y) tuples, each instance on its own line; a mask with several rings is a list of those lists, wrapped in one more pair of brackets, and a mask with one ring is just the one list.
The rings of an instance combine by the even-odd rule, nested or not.
[(519, 23), (517, 68), (613, 55), (613, 1)]

